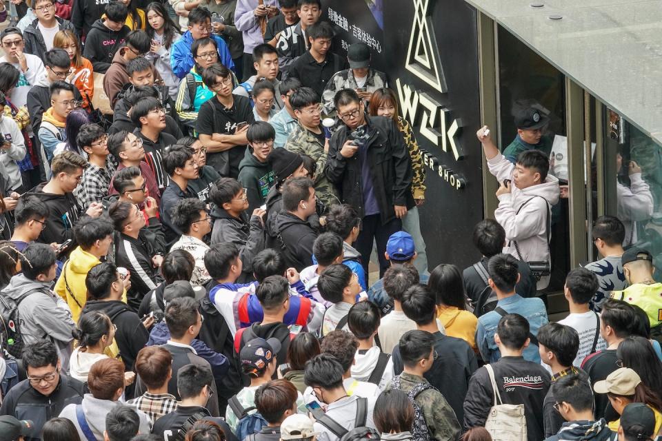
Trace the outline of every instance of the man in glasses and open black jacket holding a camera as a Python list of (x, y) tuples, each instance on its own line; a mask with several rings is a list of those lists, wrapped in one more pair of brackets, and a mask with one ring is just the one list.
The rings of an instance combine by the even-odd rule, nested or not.
[(388, 268), (386, 242), (401, 229), (401, 218), (415, 205), (409, 150), (393, 120), (367, 116), (354, 90), (338, 92), (334, 105), (344, 124), (331, 136), (324, 173), (338, 187), (342, 203), (352, 205), (361, 216), (361, 234), (354, 248), (363, 256), (365, 273), (376, 241), (379, 276), (383, 277)]

